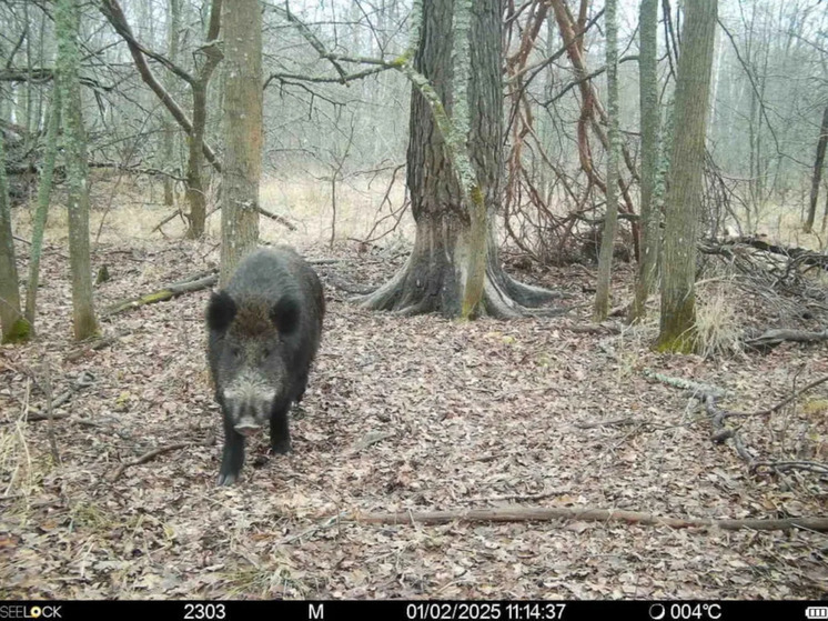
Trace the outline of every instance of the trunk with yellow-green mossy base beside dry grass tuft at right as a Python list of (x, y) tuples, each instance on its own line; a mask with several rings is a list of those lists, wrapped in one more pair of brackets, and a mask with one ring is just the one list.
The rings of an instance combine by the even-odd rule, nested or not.
[(696, 240), (710, 92), (717, 0), (688, 2), (676, 79), (675, 137), (664, 233), (657, 348), (690, 352), (696, 334)]

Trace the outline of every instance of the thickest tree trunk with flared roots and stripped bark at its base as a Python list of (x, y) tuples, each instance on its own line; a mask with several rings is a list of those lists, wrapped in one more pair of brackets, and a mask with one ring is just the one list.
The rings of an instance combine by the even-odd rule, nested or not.
[[(423, 4), (414, 68), (433, 87), (440, 98), (438, 108), (448, 117), (463, 114), (463, 110), (455, 109), (457, 84), (453, 83), (456, 63), (452, 54), (464, 53), (462, 46), (460, 52), (454, 46), (457, 26), (454, 2), (435, 0)], [(501, 197), (503, 163), (501, 3), (474, 2), (469, 27), (466, 127), (471, 131), (466, 148), (475, 178), (471, 196), (464, 196), (463, 171), (456, 170), (457, 158), (452, 158), (446, 144), (444, 133), (451, 128), (440, 126), (434, 102), (415, 86), (407, 153), (407, 183), (416, 222), (414, 249), (392, 280), (360, 299), (366, 308), (405, 314), (517, 317), (526, 311), (524, 307), (538, 306), (555, 297), (512, 280), (497, 259), (493, 220)], [(463, 99), (462, 89), (460, 94)], [(452, 124), (463, 127), (456, 119)], [(468, 286), (475, 280), (469, 278), (475, 266), (482, 268), (482, 287)]]

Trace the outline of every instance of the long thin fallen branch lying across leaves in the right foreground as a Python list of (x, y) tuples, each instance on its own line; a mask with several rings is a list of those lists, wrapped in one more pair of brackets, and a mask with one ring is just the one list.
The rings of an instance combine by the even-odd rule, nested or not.
[[(330, 518), (329, 518), (330, 519)], [(551, 520), (578, 520), (584, 522), (628, 522), (643, 525), (669, 528), (719, 528), (724, 530), (791, 530), (806, 529), (817, 532), (828, 531), (828, 518), (789, 518), (781, 520), (714, 520), (704, 518), (664, 518), (638, 511), (615, 511), (579, 507), (529, 508), (506, 507), (497, 509), (473, 509), (468, 511), (424, 511), (398, 513), (349, 513), (341, 518), (344, 522), (363, 524), (447, 524), (463, 522), (528, 522)]]

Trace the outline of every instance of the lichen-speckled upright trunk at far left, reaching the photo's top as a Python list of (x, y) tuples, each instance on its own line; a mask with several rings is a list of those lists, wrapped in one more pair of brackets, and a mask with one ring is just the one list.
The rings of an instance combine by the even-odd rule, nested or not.
[(79, 79), (79, 0), (59, 0), (55, 8), (58, 31), (58, 84), (63, 119), (63, 150), (67, 161), (69, 210), (69, 260), (72, 270), (72, 314), (74, 338), (83, 340), (98, 331), (92, 303), (92, 273), (89, 259), (89, 168), (87, 138), (81, 117)]

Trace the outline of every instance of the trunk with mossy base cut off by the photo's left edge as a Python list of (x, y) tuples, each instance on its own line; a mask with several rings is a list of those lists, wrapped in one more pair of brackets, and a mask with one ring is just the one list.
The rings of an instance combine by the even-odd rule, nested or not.
[(2, 342), (4, 343), (29, 340), (29, 322), (20, 313), (18, 287), (14, 238), (11, 232), (11, 206), (6, 180), (6, 149), (3, 134), (0, 131), (0, 328), (2, 328)]

